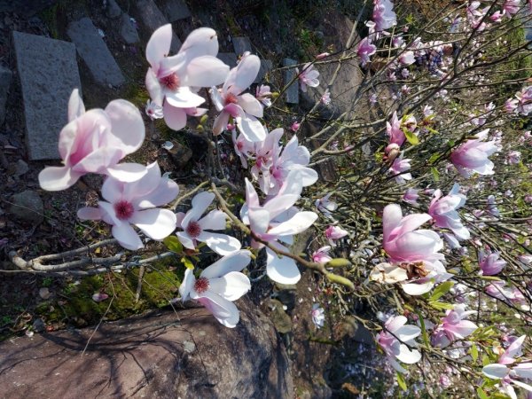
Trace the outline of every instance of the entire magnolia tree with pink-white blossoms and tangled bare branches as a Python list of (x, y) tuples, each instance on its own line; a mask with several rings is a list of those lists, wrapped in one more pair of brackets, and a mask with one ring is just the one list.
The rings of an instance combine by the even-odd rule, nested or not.
[[(86, 174), (106, 176), (98, 207), (77, 215), (109, 224), (113, 239), (29, 261), (12, 252), (12, 262), (87, 276), (177, 256), (186, 265), (178, 299), (199, 301), (227, 327), (238, 325), (233, 301), (252, 282), (297, 284), (309, 269), (323, 276), (340, 317), (374, 332), (403, 389), (411, 378), (423, 379), (432, 397), (446, 389), (482, 398), (532, 393), (532, 61), (522, 35), (532, 2), (442, 5), (423, 27), (398, 21), (389, 0), (370, 8), (345, 48), (294, 66), (291, 83), (316, 90), (317, 101), (289, 129), (278, 127), (286, 87), (253, 84), (256, 55), (230, 69), (216, 58), (208, 27), (171, 54), (172, 28), (158, 28), (145, 49), (145, 113), (175, 130), (200, 117), (208, 180), (179, 197), (192, 203), (175, 213), (179, 187), (168, 171), (121, 162), (145, 140), (137, 106), (117, 99), (86, 111), (74, 89), (59, 133), (63, 166), (44, 168), (39, 182), (59, 191)], [(362, 37), (354, 39), (356, 30)], [(339, 110), (335, 74), (322, 82), (320, 67), (348, 60), (364, 74)], [(242, 180), (221, 167), (220, 137), (232, 141)], [(327, 182), (317, 173), (326, 163), (336, 170)], [(228, 200), (230, 192), (244, 204)], [(307, 252), (293, 254), (308, 229)], [(146, 240), (162, 241), (160, 252), (143, 253)], [(122, 249), (87, 255), (112, 245)], [(265, 261), (256, 262), (262, 251)], [(218, 260), (197, 262), (205, 252)], [(360, 301), (364, 314), (355, 311)], [(309, 317), (324, 325), (319, 303)]]

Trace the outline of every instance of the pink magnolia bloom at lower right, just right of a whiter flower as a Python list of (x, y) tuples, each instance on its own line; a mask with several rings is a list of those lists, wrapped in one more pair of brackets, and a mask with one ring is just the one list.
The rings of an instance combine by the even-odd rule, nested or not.
[(454, 306), (454, 309), (447, 310), (442, 324), (438, 325), (433, 332), (432, 342), (438, 348), (445, 348), (454, 340), (464, 340), (471, 335), (478, 326), (465, 317), (475, 314), (475, 310), (465, 310), (464, 304)]

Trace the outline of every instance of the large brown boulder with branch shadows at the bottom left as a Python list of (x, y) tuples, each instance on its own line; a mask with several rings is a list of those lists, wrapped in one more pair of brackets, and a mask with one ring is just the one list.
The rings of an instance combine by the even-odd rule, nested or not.
[(293, 397), (286, 352), (267, 317), (238, 301), (230, 329), (201, 309), (44, 332), (0, 344), (6, 399)]

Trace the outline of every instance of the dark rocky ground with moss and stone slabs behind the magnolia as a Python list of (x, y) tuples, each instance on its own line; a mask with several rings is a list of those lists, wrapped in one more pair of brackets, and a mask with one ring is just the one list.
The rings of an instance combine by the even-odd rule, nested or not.
[[(57, 95), (60, 90), (69, 91), (72, 82), (79, 82), (87, 108), (127, 98), (143, 110), (145, 43), (154, 28), (168, 21), (176, 32), (176, 49), (192, 29), (209, 26), (218, 32), (225, 62), (234, 63), (243, 51), (257, 53), (263, 60), (262, 80), (273, 90), (283, 84), (276, 68), (285, 58), (301, 62), (338, 50), (350, 32), (350, 22), (339, 10), (319, 4), (305, 7), (301, 2), (33, 0), (24, 7), (19, 3), (0, 6), (0, 261), (6, 270), (12, 269), (6, 256), (12, 250), (29, 259), (85, 246), (109, 234), (106, 226), (80, 223), (75, 217), (78, 207), (98, 200), (94, 190), (98, 177), (85, 178), (65, 192), (44, 192), (37, 183), (43, 166), (57, 162), (50, 159), (57, 159), (57, 134), (66, 123), (66, 99)], [(63, 59), (46, 58), (46, 51), (50, 57), (60, 52)], [(338, 104), (348, 104), (358, 74), (356, 66), (345, 68), (340, 87), (334, 88), (344, 96)], [(286, 113), (276, 115), (278, 123), (288, 128), (293, 115), (310, 100), (301, 98), (299, 104), (287, 105)], [(148, 137), (134, 159), (158, 160), (161, 169), (172, 172), (182, 192), (200, 184), (205, 139), (192, 130), (176, 133), (163, 123), (147, 117), (145, 121)], [(190, 123), (193, 128), (198, 121)], [(166, 141), (174, 145), (170, 152), (162, 148)], [(228, 154), (223, 168), (235, 181), (241, 180), (229, 139), (219, 145)], [(179, 265), (160, 263), (140, 276), (138, 270), (84, 279), (3, 273), (0, 337), (26, 334), (20, 340), (32, 340), (35, 332), (92, 326), (102, 317), (119, 319), (164, 308), (176, 294), (182, 272)], [(372, 338), (356, 326), (339, 324), (323, 282), (309, 272), (303, 276), (296, 287), (272, 286), (262, 280), (250, 295), (284, 340), (294, 395), (364, 393), (368, 378), (354, 379), (355, 373), (360, 374), (354, 370), (361, 364), (370, 370), (379, 359), (364, 363), (355, 362), (354, 357), (371, 353)], [(115, 301), (112, 306), (92, 301), (94, 293), (114, 294)], [(310, 318), (314, 302), (328, 315), (319, 330)]]

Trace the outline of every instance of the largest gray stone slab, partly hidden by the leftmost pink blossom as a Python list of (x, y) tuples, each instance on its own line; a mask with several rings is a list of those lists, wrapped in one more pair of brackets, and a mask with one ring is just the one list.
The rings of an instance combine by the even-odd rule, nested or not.
[(72, 90), (81, 89), (73, 43), (13, 32), (30, 160), (59, 159), (59, 131)]

